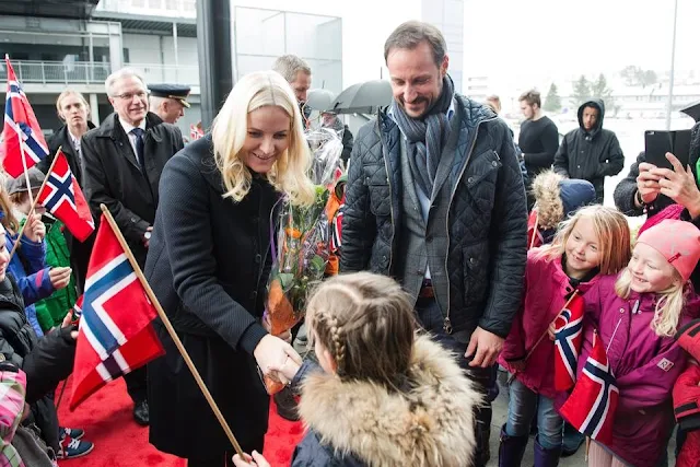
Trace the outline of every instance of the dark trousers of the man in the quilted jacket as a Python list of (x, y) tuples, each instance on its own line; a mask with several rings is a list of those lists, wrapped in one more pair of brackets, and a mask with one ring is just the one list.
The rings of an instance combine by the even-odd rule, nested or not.
[(416, 313), (423, 329), (433, 335), (434, 339), (447, 350), (457, 354), (457, 363), (467, 377), (476, 383), (476, 389), (485, 396), (486, 402), (475, 409), (477, 448), (471, 463), (472, 467), (485, 467), (490, 458), (489, 441), (491, 437), (491, 420), (493, 418), (491, 400), (495, 398), (494, 392), (498, 392), (497, 366), (487, 369), (469, 366), (469, 360), (464, 358), (464, 353), (467, 350), (471, 335), (468, 332), (446, 334), (443, 329), (444, 318), (435, 299), (418, 299)]

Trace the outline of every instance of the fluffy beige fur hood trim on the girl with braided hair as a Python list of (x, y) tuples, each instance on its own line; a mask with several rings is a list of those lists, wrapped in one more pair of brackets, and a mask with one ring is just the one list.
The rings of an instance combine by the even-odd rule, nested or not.
[(408, 393), (389, 393), (314, 373), (304, 380), (299, 411), (322, 444), (369, 466), (469, 465), (481, 396), (454, 355), (419, 336), (408, 377)]

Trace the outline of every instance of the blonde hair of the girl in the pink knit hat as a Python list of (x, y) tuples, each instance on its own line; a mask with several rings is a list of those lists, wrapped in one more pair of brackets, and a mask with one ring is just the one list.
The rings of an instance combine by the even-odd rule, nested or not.
[[(654, 308), (654, 319), (651, 328), (658, 337), (673, 337), (678, 328), (678, 320), (686, 303), (684, 281), (676, 268), (674, 281), (666, 290), (657, 292), (661, 299), (656, 301)], [(615, 282), (615, 293), (620, 299), (627, 300), (630, 296), (632, 284), (632, 272), (626, 268)]]

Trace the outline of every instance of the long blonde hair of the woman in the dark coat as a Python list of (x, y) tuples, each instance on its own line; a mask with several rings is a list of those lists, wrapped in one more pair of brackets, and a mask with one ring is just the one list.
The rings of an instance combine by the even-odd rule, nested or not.
[(248, 114), (277, 106), (289, 115), (289, 147), (278, 157), (267, 179), (294, 205), (311, 205), (314, 187), (307, 177), (311, 152), (304, 139), (302, 116), (289, 83), (275, 71), (246, 74), (236, 83), (214, 118), (211, 138), (217, 166), (226, 188), (225, 197), (241, 201), (250, 189), (253, 175), (240, 153), (248, 132)]

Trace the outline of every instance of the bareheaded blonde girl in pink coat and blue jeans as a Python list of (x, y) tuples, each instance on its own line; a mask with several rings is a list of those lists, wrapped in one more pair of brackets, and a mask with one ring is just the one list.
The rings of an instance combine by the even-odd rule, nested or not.
[(599, 205), (581, 208), (559, 225), (551, 244), (528, 252), (525, 299), (499, 358), (513, 374), (500, 466), (521, 465), (535, 418), (535, 465), (558, 465), (563, 420), (555, 408), (555, 343), (546, 335), (574, 293), (585, 300), (599, 276), (617, 273), (629, 258), (625, 215)]

